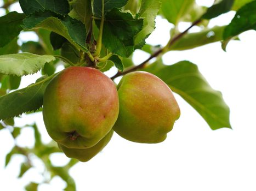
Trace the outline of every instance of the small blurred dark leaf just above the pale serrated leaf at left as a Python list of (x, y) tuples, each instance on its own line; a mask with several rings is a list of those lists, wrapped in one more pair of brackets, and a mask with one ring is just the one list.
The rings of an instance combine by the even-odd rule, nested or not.
[(36, 55), (45, 55), (45, 51), (41, 44), (36, 41), (27, 41), (21, 45), (22, 52), (35, 53)]

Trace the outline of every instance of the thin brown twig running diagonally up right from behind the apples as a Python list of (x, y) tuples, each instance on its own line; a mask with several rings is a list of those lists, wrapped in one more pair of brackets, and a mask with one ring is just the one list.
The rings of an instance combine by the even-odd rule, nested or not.
[(167, 45), (165, 47), (163, 47), (162, 49), (152, 53), (152, 55), (149, 58), (147, 58), (144, 62), (140, 63), (139, 65), (135, 65), (134, 67), (130, 67), (127, 70), (124, 70), (122, 72), (118, 71), (114, 76), (111, 77), (111, 79), (113, 80), (113, 79), (115, 79), (118, 76), (121, 76), (121, 75), (124, 75), (124, 74), (128, 74), (128, 73), (130, 73), (132, 71), (135, 71), (137, 69), (143, 68), (144, 65), (147, 62), (149, 62), (152, 58), (155, 58), (158, 55), (160, 55), (161, 53), (163, 53), (164, 51), (166, 51), (166, 49), (169, 49), (170, 46), (172, 46), (177, 40), (179, 40), (181, 37), (183, 37), (187, 33), (187, 31), (189, 31), (190, 28), (194, 27), (195, 25), (197, 25), (201, 21), (202, 21), (201, 19), (198, 19), (195, 22), (193, 22), (192, 25), (189, 28), (187, 28), (182, 33), (179, 33), (179, 34), (175, 35), (172, 39), (169, 40), (169, 42), (167, 43)]

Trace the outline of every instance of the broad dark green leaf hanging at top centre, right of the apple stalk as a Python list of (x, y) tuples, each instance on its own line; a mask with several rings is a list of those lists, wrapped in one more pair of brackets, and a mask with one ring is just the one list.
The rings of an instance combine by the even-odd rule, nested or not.
[[(134, 36), (143, 26), (143, 19), (135, 19), (130, 13), (112, 9), (106, 14), (103, 29), (103, 44), (110, 52), (129, 57), (134, 51)], [(100, 21), (96, 22), (100, 26)]]

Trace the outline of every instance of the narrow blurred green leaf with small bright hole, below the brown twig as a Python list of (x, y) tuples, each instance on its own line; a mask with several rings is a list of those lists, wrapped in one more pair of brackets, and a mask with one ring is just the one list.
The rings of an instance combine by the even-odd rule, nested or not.
[(188, 33), (184, 37), (177, 40), (170, 50), (188, 50), (209, 43), (214, 43), (223, 39), (223, 31), (225, 26), (215, 26), (213, 28), (204, 29), (201, 32)]

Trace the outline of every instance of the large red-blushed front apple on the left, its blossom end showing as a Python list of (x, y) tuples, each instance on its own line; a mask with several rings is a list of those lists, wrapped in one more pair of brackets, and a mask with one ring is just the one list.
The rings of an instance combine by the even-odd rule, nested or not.
[(110, 132), (118, 111), (115, 83), (94, 68), (66, 68), (44, 92), (43, 120), (47, 132), (67, 148), (96, 145)]

